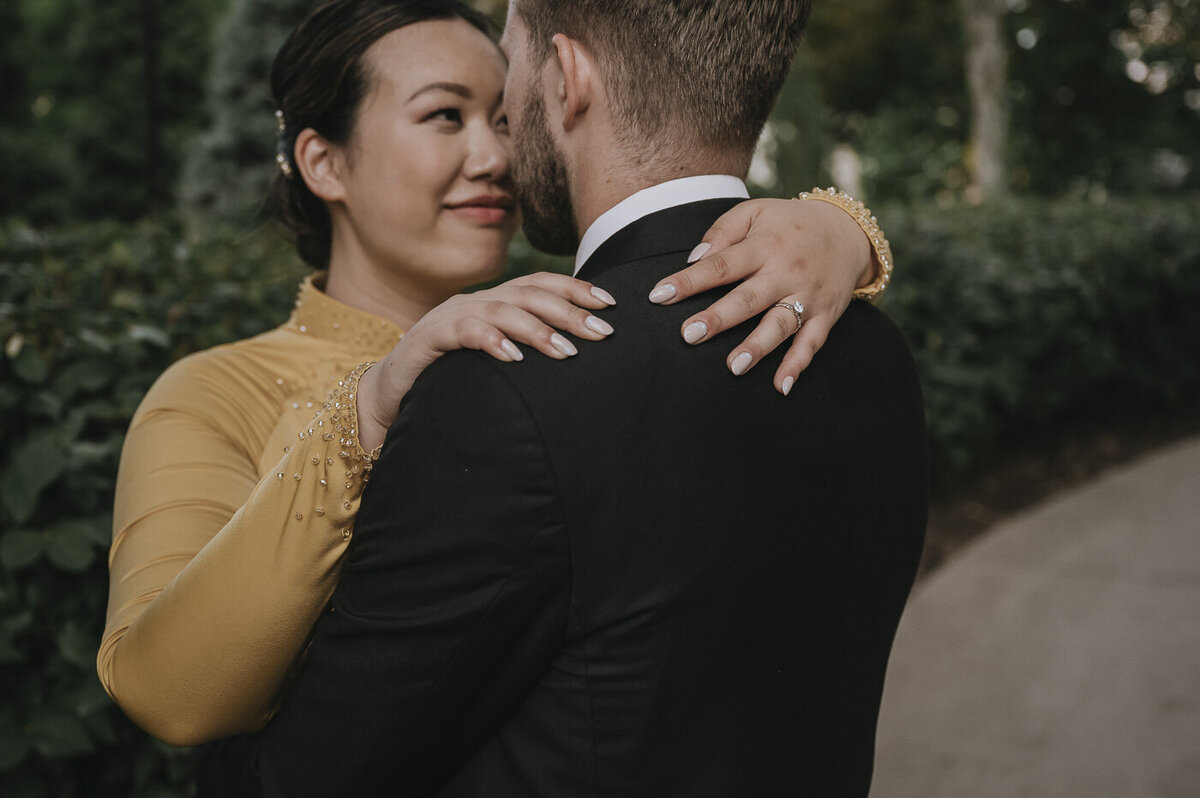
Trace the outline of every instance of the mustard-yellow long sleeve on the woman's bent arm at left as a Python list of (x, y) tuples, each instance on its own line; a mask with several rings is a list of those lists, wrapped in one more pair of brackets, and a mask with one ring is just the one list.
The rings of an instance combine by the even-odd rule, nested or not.
[[(154, 737), (194, 745), (262, 727), (332, 595), (373, 455), (355, 370), (260, 481), (228, 386), (176, 367), (121, 452), (101, 682)], [(244, 431), (244, 430), (242, 430)]]

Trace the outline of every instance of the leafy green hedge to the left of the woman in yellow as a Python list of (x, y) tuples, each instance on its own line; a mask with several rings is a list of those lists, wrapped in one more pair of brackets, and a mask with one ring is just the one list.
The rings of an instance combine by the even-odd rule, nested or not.
[[(187, 754), (104, 695), (95, 659), (125, 427), (186, 352), (286, 317), (302, 269), (266, 234), (0, 228), (0, 794), (186, 794)], [(167, 790), (167, 792), (163, 792)]]

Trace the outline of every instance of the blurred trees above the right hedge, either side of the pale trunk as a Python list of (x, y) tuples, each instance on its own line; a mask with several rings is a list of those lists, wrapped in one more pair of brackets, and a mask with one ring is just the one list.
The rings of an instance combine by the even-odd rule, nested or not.
[[(835, 139), (880, 199), (961, 192), (971, 158), (959, 2), (816, 4), (805, 58)], [(1200, 6), (1009, 0), (1013, 187), (1082, 196), (1200, 186)], [(1024, 44), (1018, 44), (1024, 41)], [(1032, 38), (1031, 38), (1032, 36)], [(1130, 59), (1168, 74), (1135, 83)]]

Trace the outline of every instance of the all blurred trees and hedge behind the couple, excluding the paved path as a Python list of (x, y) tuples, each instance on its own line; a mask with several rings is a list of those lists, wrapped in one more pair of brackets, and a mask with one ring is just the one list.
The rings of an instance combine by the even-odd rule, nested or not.
[[(311, 0), (0, 4), (0, 794), (184, 796), (94, 658), (125, 426), (281, 323), (265, 77)], [(504, 2), (476, 2), (503, 20)], [(750, 175), (872, 206), (924, 379), (924, 571), (1200, 431), (1200, 2), (818, 1)], [(560, 268), (517, 240), (512, 269)], [(881, 397), (886, 401), (886, 397)]]

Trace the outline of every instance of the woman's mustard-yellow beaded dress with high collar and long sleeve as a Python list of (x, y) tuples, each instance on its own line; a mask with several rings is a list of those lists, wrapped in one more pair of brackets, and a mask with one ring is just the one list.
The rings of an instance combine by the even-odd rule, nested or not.
[(262, 727), (337, 582), (372, 461), (356, 367), (402, 331), (320, 280), (282, 326), (167, 370), (125, 442), (97, 670), (168, 743)]

